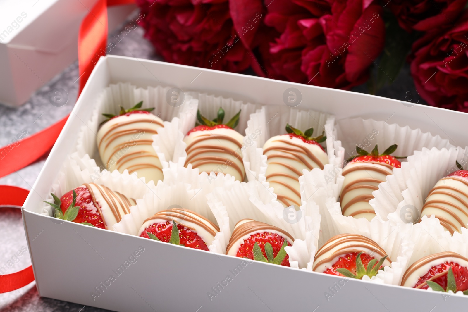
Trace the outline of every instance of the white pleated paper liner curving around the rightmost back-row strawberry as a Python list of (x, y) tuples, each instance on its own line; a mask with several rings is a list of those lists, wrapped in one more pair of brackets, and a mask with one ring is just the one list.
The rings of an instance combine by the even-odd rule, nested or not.
[(378, 218), (392, 220), (395, 223), (416, 222), (424, 206), (429, 191), (441, 178), (458, 170), (455, 161), (468, 162), (468, 147), (423, 148), (408, 157), (401, 168), (393, 169), (394, 174), (387, 176), (387, 181), (380, 183), (373, 191), (373, 206)]

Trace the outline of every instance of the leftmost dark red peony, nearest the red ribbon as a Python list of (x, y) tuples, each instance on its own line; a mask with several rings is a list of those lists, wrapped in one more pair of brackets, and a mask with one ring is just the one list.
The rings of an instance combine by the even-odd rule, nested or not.
[[(260, 35), (261, 0), (137, 0), (145, 37), (168, 62), (230, 72), (252, 66), (268, 36)], [(273, 36), (273, 34), (271, 35)]]

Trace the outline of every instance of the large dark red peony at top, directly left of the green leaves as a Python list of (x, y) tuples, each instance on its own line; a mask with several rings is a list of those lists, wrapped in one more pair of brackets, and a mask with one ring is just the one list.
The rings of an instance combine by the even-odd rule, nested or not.
[(372, 0), (275, 0), (265, 24), (281, 33), (270, 49), (276, 77), (322, 87), (364, 83), (385, 42)]

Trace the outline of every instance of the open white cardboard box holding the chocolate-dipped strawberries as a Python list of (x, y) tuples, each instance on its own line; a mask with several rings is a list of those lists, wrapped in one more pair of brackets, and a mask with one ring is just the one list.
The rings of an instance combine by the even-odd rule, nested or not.
[[(161, 243), (47, 217), (41, 211), (95, 99), (110, 83), (158, 84), (262, 104), (284, 105), (289, 87), (299, 108), (421, 128), (468, 145), (468, 114), (342, 90), (135, 58), (101, 58), (53, 147), (22, 216), (39, 294), (115, 311), (458, 311), (468, 298), (345, 280), (263, 262)], [(137, 261), (128, 261), (138, 254)], [(124, 265), (125, 261), (127, 266)], [(120, 268), (120, 270), (117, 270)], [(117, 274), (118, 273), (118, 274)], [(108, 282), (110, 276), (117, 276)], [(227, 282), (227, 276), (230, 276)], [(110, 283), (110, 285), (109, 285)], [(109, 285), (109, 286), (106, 286)], [(96, 297), (91, 294), (100, 289)], [(216, 289), (217, 292), (214, 292)], [(208, 292), (216, 294), (212, 297)], [(326, 293), (331, 295), (326, 296)]]

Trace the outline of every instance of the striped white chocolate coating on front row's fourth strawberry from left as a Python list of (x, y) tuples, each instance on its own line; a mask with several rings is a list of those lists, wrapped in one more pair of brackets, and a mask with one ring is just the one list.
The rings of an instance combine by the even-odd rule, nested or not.
[[(366, 253), (377, 260), (386, 255), (385, 250), (372, 239), (358, 234), (340, 234), (329, 239), (317, 251), (312, 270), (323, 273), (331, 268), (341, 256), (360, 252)], [(382, 266), (390, 266), (391, 264), (392, 261), (387, 257)]]

